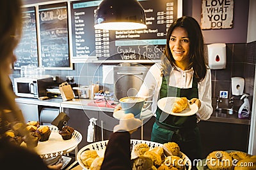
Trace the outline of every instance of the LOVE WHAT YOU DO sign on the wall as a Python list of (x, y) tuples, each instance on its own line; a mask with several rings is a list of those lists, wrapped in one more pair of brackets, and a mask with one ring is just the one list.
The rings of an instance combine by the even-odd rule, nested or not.
[(202, 0), (202, 29), (233, 27), (234, 0)]

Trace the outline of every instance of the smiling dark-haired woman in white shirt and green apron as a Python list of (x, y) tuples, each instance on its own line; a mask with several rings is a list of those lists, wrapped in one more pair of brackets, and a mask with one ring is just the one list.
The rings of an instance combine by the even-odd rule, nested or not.
[[(161, 63), (150, 67), (138, 96), (152, 100), (156, 113), (151, 140), (175, 142), (192, 161), (201, 158), (197, 123), (211, 117), (211, 71), (204, 58), (204, 38), (192, 17), (178, 18), (170, 25)], [(186, 117), (164, 113), (157, 107), (163, 97), (187, 97), (198, 112)], [(172, 107), (172, 106), (171, 106)]]

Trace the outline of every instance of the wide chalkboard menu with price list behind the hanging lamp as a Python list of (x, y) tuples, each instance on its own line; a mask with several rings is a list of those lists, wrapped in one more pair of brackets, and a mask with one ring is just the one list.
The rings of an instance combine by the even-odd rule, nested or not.
[(147, 29), (131, 31), (95, 30), (94, 11), (101, 1), (71, 2), (73, 59), (81, 56), (96, 56), (99, 60), (161, 59), (168, 27), (178, 17), (178, 1), (139, 0), (146, 13)]

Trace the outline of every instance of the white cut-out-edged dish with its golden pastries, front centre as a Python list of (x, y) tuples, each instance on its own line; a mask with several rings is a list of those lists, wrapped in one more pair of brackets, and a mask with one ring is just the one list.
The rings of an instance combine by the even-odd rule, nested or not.
[[(93, 165), (99, 159), (104, 159), (104, 152), (108, 142), (99, 141), (90, 145), (84, 146), (77, 154), (78, 162), (84, 169), (92, 170), (98, 168)], [(186, 166), (191, 167), (191, 162), (184, 153), (180, 152), (179, 145), (174, 142), (165, 143), (166, 148), (171, 154), (177, 156), (169, 156), (164, 152), (163, 145), (152, 143), (151, 141), (141, 142), (136, 139), (131, 139), (131, 166), (132, 170), (156, 170), (156, 169), (172, 169), (186, 170)], [(140, 155), (142, 154), (143, 155)], [(96, 163), (95, 163), (96, 164)], [(90, 166), (91, 165), (91, 166)], [(100, 162), (101, 165), (101, 162)]]

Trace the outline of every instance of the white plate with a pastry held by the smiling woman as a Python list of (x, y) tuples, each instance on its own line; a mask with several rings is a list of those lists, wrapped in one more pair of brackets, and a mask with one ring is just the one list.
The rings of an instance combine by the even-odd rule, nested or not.
[(189, 108), (181, 111), (180, 113), (173, 113), (172, 108), (176, 97), (164, 97), (157, 102), (157, 106), (159, 109), (164, 111), (165, 113), (169, 113), (170, 115), (178, 116), (178, 117), (188, 117), (194, 115), (198, 111), (198, 107), (196, 104), (189, 104)]

